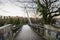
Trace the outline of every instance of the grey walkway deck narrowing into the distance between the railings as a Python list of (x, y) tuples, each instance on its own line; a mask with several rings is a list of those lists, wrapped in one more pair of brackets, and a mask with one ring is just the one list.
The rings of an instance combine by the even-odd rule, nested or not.
[(22, 30), (17, 35), (15, 40), (43, 40), (42, 37), (37, 35), (28, 25), (23, 25)]

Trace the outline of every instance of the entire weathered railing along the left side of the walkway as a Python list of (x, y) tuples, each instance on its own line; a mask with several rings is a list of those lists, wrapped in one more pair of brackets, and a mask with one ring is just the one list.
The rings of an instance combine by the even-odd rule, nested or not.
[(0, 27), (0, 40), (14, 40), (17, 33), (21, 30), (22, 25), (14, 27), (12, 24), (8, 24)]

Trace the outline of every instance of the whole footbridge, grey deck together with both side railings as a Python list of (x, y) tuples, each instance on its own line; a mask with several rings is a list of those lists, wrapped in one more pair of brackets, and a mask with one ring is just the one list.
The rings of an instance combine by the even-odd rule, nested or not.
[(8, 24), (0, 27), (0, 40), (60, 40), (60, 29), (51, 25)]

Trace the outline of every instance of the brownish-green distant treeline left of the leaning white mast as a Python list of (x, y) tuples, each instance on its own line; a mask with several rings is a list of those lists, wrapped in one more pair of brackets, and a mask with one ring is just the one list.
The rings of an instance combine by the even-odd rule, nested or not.
[(13, 25), (19, 25), (19, 24), (27, 24), (28, 20), (27, 18), (23, 17), (13, 17), (13, 16), (0, 16), (0, 26), (6, 25), (6, 24), (13, 24)]

